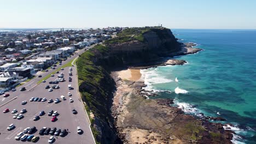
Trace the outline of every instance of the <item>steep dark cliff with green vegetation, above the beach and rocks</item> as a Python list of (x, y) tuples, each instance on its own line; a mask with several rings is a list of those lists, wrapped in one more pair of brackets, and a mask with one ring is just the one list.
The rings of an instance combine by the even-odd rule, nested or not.
[(110, 111), (115, 82), (109, 71), (117, 67), (145, 65), (181, 50), (170, 29), (143, 31), (130, 38), (125, 36), (123, 43), (97, 45), (78, 58), (79, 91), (87, 104), (86, 110), (94, 113), (91, 128), (99, 143), (121, 143)]

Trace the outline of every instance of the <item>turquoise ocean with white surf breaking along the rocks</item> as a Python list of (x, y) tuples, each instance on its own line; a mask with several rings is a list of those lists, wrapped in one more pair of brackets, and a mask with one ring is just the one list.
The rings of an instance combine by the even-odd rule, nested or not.
[[(141, 70), (151, 98), (172, 98), (185, 113), (223, 117), (234, 143), (256, 143), (256, 30), (172, 29), (198, 53), (175, 57), (188, 63)], [(177, 82), (178, 81), (178, 82)]]

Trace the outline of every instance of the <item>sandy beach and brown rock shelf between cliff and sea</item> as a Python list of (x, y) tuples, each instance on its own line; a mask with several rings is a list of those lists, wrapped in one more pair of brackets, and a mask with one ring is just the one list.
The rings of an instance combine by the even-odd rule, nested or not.
[[(189, 44), (183, 47), (182, 51), (172, 53), (172, 55), (188, 55), (201, 50), (192, 48), (192, 45)], [(217, 138), (222, 140), (219, 143), (231, 143), (233, 131), (224, 129), (223, 124), (211, 123), (206, 120), (225, 121), (225, 119), (204, 117), (203, 114), (203, 118), (196, 118), (186, 115), (178, 107), (171, 106), (170, 104), (173, 104), (172, 99), (148, 99), (148, 97), (155, 96), (157, 93), (142, 89), (147, 85), (141, 79), (140, 69), (176, 64), (182, 65), (184, 63), (181, 63), (181, 60), (168, 59), (160, 64), (129, 67), (125, 70), (112, 72), (111, 75), (117, 84), (112, 113), (120, 139), (124, 143), (211, 143), (207, 136), (218, 135)], [(177, 127), (178, 125), (179, 127)], [(194, 125), (194, 130), (191, 130), (193, 132), (190, 131), (189, 134), (184, 132), (187, 131), (186, 129), (190, 129), (188, 125)], [(212, 132), (202, 133), (205, 130), (214, 131), (214, 134)], [(196, 132), (194, 133), (194, 131)], [(197, 135), (201, 135), (201, 139), (198, 139)]]

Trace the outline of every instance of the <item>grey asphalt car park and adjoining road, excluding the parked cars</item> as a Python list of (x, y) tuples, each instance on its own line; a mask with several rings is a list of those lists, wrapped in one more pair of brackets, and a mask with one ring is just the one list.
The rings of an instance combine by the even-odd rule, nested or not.
[[(84, 52), (84, 50), (80, 50), (78, 54)], [(67, 61), (63, 62), (63, 64), (67, 63), (71, 59), (73, 59), (73, 56), (71, 58), (68, 58)], [(61, 66), (61, 65), (60, 65)], [(58, 65), (58, 67), (60, 67)], [(47, 143), (48, 139), (51, 135), (44, 135), (40, 136), (39, 130), (42, 127), (49, 127), (49, 128), (60, 128), (60, 129), (68, 129), (69, 133), (65, 137), (55, 136), (56, 141), (54, 143), (94, 143), (94, 138), (91, 133), (90, 129), (90, 122), (88, 119), (88, 116), (86, 116), (82, 101), (80, 100), (80, 97), (78, 95), (78, 82), (77, 82), (77, 70), (75, 67), (73, 68), (73, 76), (72, 82), (68, 82), (68, 67), (66, 67), (64, 70), (60, 70), (60, 73), (63, 73), (65, 76), (65, 82), (60, 82), (59, 89), (54, 89), (53, 92), (48, 92), (48, 89), (45, 89), (46, 85), (52, 86), (49, 84), (49, 81), (53, 81), (57, 78), (57, 74), (55, 74), (54, 77), (50, 77), (48, 80), (46, 80), (45, 83), (40, 83), (36, 86), (37, 81), (39, 81), (39, 77), (36, 77), (35, 79), (31, 80), (30, 82), (26, 83), (25, 86), (27, 88), (27, 91), (20, 92), (19, 89), (15, 92), (9, 92), (10, 97), (5, 98), (4, 100), (0, 99), (0, 105), (6, 103), (7, 101), (13, 99), (14, 97), (18, 97), (9, 103), (5, 104), (4, 106), (0, 107), (0, 143), (24, 143), (21, 141), (16, 141), (14, 137), (20, 132), (23, 131), (26, 127), (32, 127), (35, 126), (38, 131), (34, 133), (34, 135), (38, 135), (40, 137), (39, 141), (37, 143)], [(42, 74), (43, 77), (49, 73), (51, 73), (53, 70), (49, 70), (48, 73)], [(69, 90), (68, 85), (71, 84), (74, 89)], [(34, 87), (36, 86), (36, 87)], [(72, 96), (68, 97), (68, 92), (71, 92)], [(67, 100), (61, 100), (59, 104), (54, 103), (47, 103), (49, 99), (56, 99), (60, 98), (61, 95), (64, 95)], [(39, 98), (46, 98), (47, 101), (45, 102), (31, 102), (29, 99), (31, 97), (39, 97)], [(69, 98), (72, 98), (74, 100), (73, 103), (69, 102)], [(21, 101), (27, 100), (26, 105), (21, 105)], [(4, 109), (9, 109), (10, 111), (13, 109), (17, 109), (18, 112), (20, 112), (21, 109), (27, 109), (27, 112), (24, 114), (24, 118), (18, 120), (13, 118), (13, 114), (10, 112), (3, 113), (2, 111)], [(74, 115), (72, 113), (72, 109), (75, 109), (78, 111), (77, 115)], [(33, 121), (33, 117), (36, 115), (39, 115), (39, 112), (44, 110), (45, 115), (41, 116), (38, 121)], [(51, 117), (47, 115), (48, 111), (54, 110), (58, 111), (60, 114), (57, 116), (56, 122), (51, 122)], [(7, 127), (9, 124), (14, 123), (16, 128), (8, 131)], [(81, 129), (84, 131), (82, 135), (77, 134), (77, 127), (80, 126)], [(25, 142), (27, 143), (27, 142)]]

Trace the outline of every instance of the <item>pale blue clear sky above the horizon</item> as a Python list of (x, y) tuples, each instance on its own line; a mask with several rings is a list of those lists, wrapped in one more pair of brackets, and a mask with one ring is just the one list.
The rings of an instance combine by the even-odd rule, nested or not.
[(0, 28), (256, 29), (254, 0), (0, 0)]

